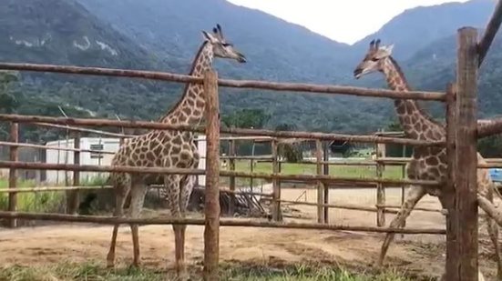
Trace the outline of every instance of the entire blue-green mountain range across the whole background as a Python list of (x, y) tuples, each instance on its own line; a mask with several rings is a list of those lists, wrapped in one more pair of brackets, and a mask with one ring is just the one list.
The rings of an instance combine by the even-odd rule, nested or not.
[[(415, 89), (443, 90), (454, 70), (456, 29), (486, 25), (494, 5), (493, 0), (472, 0), (418, 7), (397, 15), (355, 45), (345, 45), (224, 0), (4, 0), (0, 60), (186, 74), (202, 42), (200, 31), (220, 23), (226, 37), (248, 58), (244, 65), (216, 61), (220, 77), (385, 86), (382, 75), (360, 80), (352, 75), (369, 39), (380, 37), (384, 44), (395, 44), (394, 56)], [(502, 56), (495, 46), (491, 53)], [(492, 77), (483, 84), (490, 85), (483, 88), (489, 100), (497, 93), (499, 70), (492, 62), (484, 67)], [(60, 115), (57, 105), (63, 105), (74, 116), (112, 118), (117, 114), (156, 119), (179, 98), (183, 86), (27, 72), (22, 79), (17, 89), (25, 98), (21, 113)], [(261, 108), (271, 115), (268, 127), (290, 124), (301, 130), (373, 132), (394, 120), (389, 100), (341, 95), (221, 88), (220, 105), (223, 115)], [(483, 106), (489, 104), (481, 106), (488, 115), (497, 112)]]

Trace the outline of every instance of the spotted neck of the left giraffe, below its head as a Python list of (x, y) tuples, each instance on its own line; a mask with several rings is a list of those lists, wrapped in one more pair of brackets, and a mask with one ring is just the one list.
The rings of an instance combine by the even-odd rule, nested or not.
[[(190, 75), (202, 77), (212, 66), (212, 45), (205, 41), (200, 45), (199, 52), (192, 63)], [(204, 85), (188, 84), (178, 103), (169, 112), (160, 118), (159, 122), (180, 125), (200, 125), (204, 118), (206, 100), (204, 98)]]

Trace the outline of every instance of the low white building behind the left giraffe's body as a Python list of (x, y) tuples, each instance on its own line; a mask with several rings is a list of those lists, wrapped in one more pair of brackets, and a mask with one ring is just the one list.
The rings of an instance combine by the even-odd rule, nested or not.
[[(206, 168), (206, 137), (205, 135), (199, 135), (198, 147), (201, 156), (199, 168)], [(87, 150), (101, 150), (105, 152), (117, 152), (119, 147), (119, 138), (113, 137), (82, 137), (80, 138), (80, 149)], [(48, 147), (74, 147), (74, 140), (57, 140), (46, 143)], [(65, 150), (46, 150), (46, 163), (47, 164), (73, 164), (73, 151)], [(93, 165), (93, 166), (110, 166), (112, 154), (99, 154), (90, 152), (80, 153), (80, 165)], [(71, 171), (46, 171), (46, 182), (54, 185), (65, 185), (66, 175), (68, 178), (69, 185), (73, 181), (73, 172)], [(100, 172), (80, 172), (80, 183), (92, 180), (96, 176), (107, 177), (108, 173)], [(199, 176), (200, 186), (204, 186), (206, 181), (206, 176)]]

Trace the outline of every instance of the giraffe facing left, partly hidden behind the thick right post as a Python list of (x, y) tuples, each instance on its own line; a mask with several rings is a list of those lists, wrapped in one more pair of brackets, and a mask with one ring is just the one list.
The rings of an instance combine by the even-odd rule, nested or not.
[[(353, 71), (356, 79), (373, 72), (384, 74), (387, 85), (396, 91), (409, 91), (410, 87), (406, 82), (405, 75), (401, 68), (391, 56), (393, 45), (380, 46), (380, 40), (372, 41), (370, 48), (363, 61), (357, 65)], [(439, 141), (446, 140), (446, 127), (436, 122), (431, 116), (418, 105), (415, 100), (396, 99), (394, 100), (395, 112), (399, 122), (403, 126), (405, 135), (408, 138)], [(477, 154), (478, 163), (485, 163), (483, 157)], [(413, 159), (406, 166), (407, 175), (410, 179), (446, 181), (446, 148), (439, 147), (415, 147)], [(481, 196), (493, 202), (495, 186), (489, 176), (487, 169), (477, 169), (477, 191)], [(409, 191), (405, 197), (405, 203), (401, 206), (398, 214), (391, 222), (391, 227), (402, 227), (406, 217), (410, 215), (416, 203), (429, 194), (437, 196), (443, 208), (446, 208), (446, 198), (441, 187), (434, 186), (409, 186)], [(498, 194), (497, 194), (498, 195)], [(499, 256), (497, 243), (498, 227), (490, 216), (487, 217), (488, 234), (495, 247), (497, 257), (498, 276), (502, 276), (502, 264)], [(377, 262), (377, 266), (382, 266), (384, 256), (390, 246), (394, 234), (385, 236), (384, 244)]]

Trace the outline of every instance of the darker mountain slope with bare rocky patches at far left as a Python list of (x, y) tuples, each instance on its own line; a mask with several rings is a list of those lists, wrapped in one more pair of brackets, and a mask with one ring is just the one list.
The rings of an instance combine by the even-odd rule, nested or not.
[[(73, 1), (4, 0), (0, 2), (0, 60), (58, 65), (159, 69), (160, 63), (128, 36), (115, 32)], [(23, 72), (26, 98), (44, 101), (26, 112), (60, 115), (56, 105), (93, 115), (134, 114), (138, 103), (156, 99), (159, 84), (142, 80)], [(148, 91), (146, 91), (148, 89)], [(143, 96), (136, 95), (141, 92)], [(159, 96), (159, 95), (157, 95)], [(46, 102), (51, 101), (47, 106)], [(56, 112), (46, 108), (56, 107)], [(150, 105), (144, 105), (149, 110)]]

